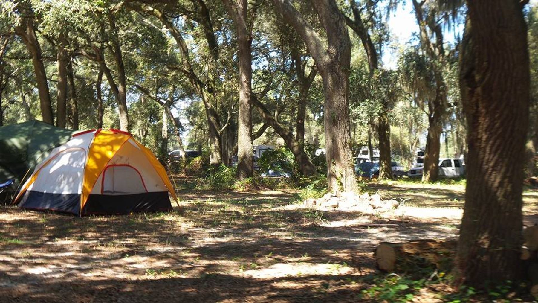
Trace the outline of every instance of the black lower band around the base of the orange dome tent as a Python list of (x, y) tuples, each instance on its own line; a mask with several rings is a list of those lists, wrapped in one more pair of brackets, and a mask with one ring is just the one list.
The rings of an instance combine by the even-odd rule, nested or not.
[(126, 195), (90, 194), (82, 213), (80, 194), (51, 194), (34, 191), (24, 193), (19, 207), (51, 210), (74, 215), (126, 215), (131, 213), (168, 212), (172, 210), (168, 192), (148, 192)]

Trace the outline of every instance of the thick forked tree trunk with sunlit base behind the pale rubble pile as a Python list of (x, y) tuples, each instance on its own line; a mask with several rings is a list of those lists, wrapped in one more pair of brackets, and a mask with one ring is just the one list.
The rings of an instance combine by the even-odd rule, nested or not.
[(323, 79), (328, 189), (330, 192), (356, 191), (348, 100), (351, 41), (344, 17), (334, 0), (312, 1), (327, 32), (329, 48), (326, 48), (319, 34), (288, 0), (273, 0), (273, 4), (285, 22), (293, 26), (305, 41)]

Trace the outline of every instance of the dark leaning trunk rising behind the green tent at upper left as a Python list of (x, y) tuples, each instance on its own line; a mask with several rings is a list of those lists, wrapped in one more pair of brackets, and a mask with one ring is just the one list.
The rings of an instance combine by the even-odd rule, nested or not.
[(23, 39), (26, 48), (32, 55), (32, 64), (34, 73), (36, 73), (39, 104), (43, 122), (54, 124), (51, 95), (48, 90), (47, 75), (45, 73), (45, 66), (41, 55), (41, 47), (39, 46), (39, 41), (33, 26), (33, 17), (24, 17), (22, 19), (22, 26), (17, 26), (15, 32)]

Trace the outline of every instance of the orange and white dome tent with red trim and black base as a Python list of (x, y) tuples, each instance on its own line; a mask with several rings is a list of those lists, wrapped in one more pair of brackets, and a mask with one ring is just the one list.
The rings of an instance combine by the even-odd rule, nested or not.
[(89, 130), (73, 135), (36, 166), (17, 195), (19, 207), (80, 216), (172, 209), (166, 170), (130, 133)]

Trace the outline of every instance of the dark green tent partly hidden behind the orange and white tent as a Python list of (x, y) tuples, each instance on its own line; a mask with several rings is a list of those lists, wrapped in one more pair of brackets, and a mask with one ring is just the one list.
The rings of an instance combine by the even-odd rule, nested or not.
[(0, 183), (8, 179), (22, 181), (28, 171), (54, 147), (66, 143), (72, 133), (37, 120), (0, 127)]

